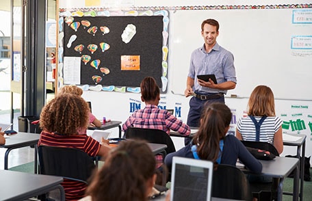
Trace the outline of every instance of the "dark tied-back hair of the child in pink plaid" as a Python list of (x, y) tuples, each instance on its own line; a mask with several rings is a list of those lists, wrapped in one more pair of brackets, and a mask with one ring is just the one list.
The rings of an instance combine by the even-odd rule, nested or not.
[(155, 100), (159, 95), (159, 87), (153, 77), (145, 77), (140, 85), (144, 101)]

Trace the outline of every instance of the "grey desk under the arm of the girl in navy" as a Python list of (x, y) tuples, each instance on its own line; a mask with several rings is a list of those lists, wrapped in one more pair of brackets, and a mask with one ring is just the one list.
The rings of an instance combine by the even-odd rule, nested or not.
[[(262, 161), (262, 173), (257, 175), (272, 176), (274, 178), (280, 178), (278, 183), (277, 200), (283, 199), (283, 182), (284, 179), (295, 170), (294, 174), (294, 189), (293, 189), (293, 200), (298, 200), (298, 170), (299, 170), (299, 159), (288, 158), (288, 157), (276, 157), (270, 161)], [(252, 174), (249, 170), (239, 167), (245, 174)]]

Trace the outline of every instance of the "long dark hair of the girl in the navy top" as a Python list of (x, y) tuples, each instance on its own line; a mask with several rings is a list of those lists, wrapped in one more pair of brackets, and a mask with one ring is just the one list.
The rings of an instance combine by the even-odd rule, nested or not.
[(200, 127), (194, 137), (194, 144), (198, 145), (197, 154), (200, 159), (213, 162), (218, 159), (220, 139), (226, 135), (231, 119), (231, 109), (224, 103), (211, 103), (203, 109)]

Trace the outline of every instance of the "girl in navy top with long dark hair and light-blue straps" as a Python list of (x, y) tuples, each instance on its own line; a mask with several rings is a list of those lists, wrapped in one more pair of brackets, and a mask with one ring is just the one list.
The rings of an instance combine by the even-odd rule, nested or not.
[(239, 159), (248, 170), (260, 173), (261, 163), (234, 135), (226, 135), (231, 118), (231, 110), (224, 103), (211, 103), (205, 107), (200, 118), (200, 127), (192, 142), (166, 156), (165, 163), (169, 170), (172, 166), (172, 157), (177, 156), (234, 166)]

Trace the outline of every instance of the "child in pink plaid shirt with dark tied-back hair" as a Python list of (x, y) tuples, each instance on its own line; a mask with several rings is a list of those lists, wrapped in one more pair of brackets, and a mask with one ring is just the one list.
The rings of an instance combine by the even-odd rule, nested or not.
[(170, 130), (178, 131), (183, 135), (190, 135), (190, 127), (170, 114), (166, 109), (157, 107), (160, 100), (159, 87), (153, 77), (145, 77), (140, 85), (141, 100), (145, 103), (144, 109), (138, 109), (122, 124), (123, 131), (129, 127), (143, 129), (159, 129), (168, 135)]

